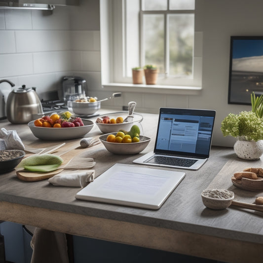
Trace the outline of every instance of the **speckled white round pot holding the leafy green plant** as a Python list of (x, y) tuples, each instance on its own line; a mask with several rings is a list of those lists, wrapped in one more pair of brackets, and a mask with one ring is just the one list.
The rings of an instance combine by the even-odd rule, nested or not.
[(255, 142), (237, 139), (234, 144), (234, 151), (237, 157), (241, 159), (257, 160), (263, 154), (263, 140)]

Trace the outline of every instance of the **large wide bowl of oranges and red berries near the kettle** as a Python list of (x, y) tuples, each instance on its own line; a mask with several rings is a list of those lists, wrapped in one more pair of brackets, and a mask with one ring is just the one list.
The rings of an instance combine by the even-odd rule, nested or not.
[(45, 115), (28, 123), (28, 127), (38, 139), (51, 141), (81, 138), (93, 126), (92, 120), (73, 117), (70, 112)]

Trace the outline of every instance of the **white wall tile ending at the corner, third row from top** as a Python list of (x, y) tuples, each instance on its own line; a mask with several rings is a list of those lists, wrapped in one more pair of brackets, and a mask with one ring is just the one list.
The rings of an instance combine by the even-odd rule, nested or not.
[(70, 51), (34, 53), (33, 58), (35, 73), (71, 70)]

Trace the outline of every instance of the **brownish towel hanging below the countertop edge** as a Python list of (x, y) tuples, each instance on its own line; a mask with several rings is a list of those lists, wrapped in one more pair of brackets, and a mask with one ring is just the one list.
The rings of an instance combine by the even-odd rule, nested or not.
[(69, 263), (66, 234), (36, 227), (31, 263)]

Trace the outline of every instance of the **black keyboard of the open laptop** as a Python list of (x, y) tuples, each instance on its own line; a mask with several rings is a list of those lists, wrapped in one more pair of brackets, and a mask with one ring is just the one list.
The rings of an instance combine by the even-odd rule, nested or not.
[(176, 158), (176, 157), (168, 157), (168, 156), (154, 156), (150, 159), (149, 163), (158, 163), (164, 165), (171, 165), (171, 166), (181, 166), (181, 167), (190, 167), (192, 166), (197, 160), (193, 159), (184, 159), (184, 158)]

